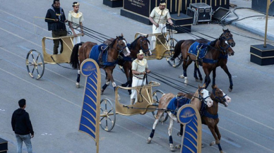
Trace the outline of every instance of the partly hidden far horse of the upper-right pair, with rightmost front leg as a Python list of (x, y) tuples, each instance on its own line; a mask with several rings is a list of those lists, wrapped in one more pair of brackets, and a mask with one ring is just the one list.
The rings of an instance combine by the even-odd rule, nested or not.
[[(208, 42), (210, 42), (208, 39), (196, 39), (196, 42), (199, 42), (199, 43), (203, 43), (203, 44), (206, 44)], [(222, 68), (222, 70), (225, 71), (225, 73), (227, 73), (227, 76), (230, 80), (230, 87), (228, 89), (229, 92), (232, 92), (232, 89), (233, 89), (233, 82), (232, 82), (232, 75), (230, 74), (230, 71), (228, 71), (228, 68), (227, 68), (227, 58), (228, 56), (233, 56), (234, 55), (234, 51), (232, 49), (232, 47), (228, 47), (224, 52), (223, 54), (220, 54), (219, 58), (218, 58), (218, 63), (217, 63), (217, 66), (220, 66)], [(198, 68), (198, 63), (200, 66), (203, 66), (201, 64), (201, 62), (198, 62), (196, 61), (196, 63), (194, 63), (194, 78), (196, 79), (196, 81), (198, 82), (199, 80), (202, 82), (203, 81), (203, 78), (202, 78), (202, 75), (201, 75), (201, 72)], [(212, 86), (214, 87), (215, 85), (215, 78), (216, 78), (216, 68), (213, 69), (213, 81), (212, 81)], [(197, 72), (198, 72), (198, 76), (199, 78), (197, 77)]]

